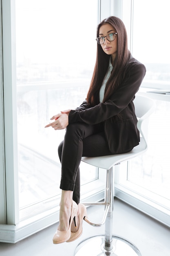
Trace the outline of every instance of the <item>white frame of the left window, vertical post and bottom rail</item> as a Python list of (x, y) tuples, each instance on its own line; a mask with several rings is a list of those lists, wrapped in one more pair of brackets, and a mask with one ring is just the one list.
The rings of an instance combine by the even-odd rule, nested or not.
[[(100, 1), (98, 6), (100, 11)], [(2, 160), (0, 161), (0, 242), (16, 243), (54, 224), (59, 219), (59, 205), (24, 221), (19, 219), (15, 0), (2, 0), (2, 24), (5, 33), (3, 33), (3, 38), (1, 37), (3, 40), (3, 64), (1, 62), (3, 83), (1, 79), (0, 117), (3, 122), (0, 124), (0, 142), (3, 146), (0, 148), (0, 160)], [(2, 44), (0, 46), (2, 49)], [(98, 186), (97, 189), (87, 193), (84, 189), (86, 185), (84, 185), (82, 200), (99, 201), (104, 198), (104, 174), (99, 171), (98, 180), (99, 184), (102, 181), (102, 186)], [(93, 187), (96, 183), (97, 180), (93, 182)]]

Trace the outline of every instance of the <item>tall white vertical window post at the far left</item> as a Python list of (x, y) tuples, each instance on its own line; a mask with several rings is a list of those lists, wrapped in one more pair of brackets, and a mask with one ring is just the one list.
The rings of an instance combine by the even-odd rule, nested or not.
[(15, 1), (2, 0), (2, 38), (7, 224), (15, 225), (19, 222)]

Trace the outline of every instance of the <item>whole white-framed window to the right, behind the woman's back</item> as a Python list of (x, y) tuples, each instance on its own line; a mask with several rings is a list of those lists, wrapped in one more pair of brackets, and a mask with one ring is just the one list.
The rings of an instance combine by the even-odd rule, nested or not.
[[(128, 27), (128, 36), (131, 35), (131, 52), (146, 65), (147, 70), (141, 85), (143, 88), (139, 93), (152, 97), (157, 108), (150, 117), (148, 150), (140, 157), (130, 160), (128, 164), (120, 165), (116, 195), (170, 226), (170, 121), (167, 118), (170, 115), (170, 98), (169, 95), (155, 96), (146, 93), (148, 88), (170, 89), (168, 1), (163, 0), (160, 3), (152, 0), (133, 0), (126, 2), (125, 7), (123, 20)], [(131, 9), (131, 23), (127, 8)], [(159, 39), (155, 38), (158, 34)]]

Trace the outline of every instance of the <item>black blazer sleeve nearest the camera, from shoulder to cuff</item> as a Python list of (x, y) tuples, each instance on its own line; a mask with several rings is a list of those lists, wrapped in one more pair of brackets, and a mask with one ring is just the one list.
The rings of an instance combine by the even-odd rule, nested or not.
[(82, 107), (71, 110), (68, 115), (68, 123), (98, 124), (119, 114), (134, 99), (145, 74), (146, 68), (142, 63), (138, 61), (130, 63), (128, 77), (124, 79), (108, 101), (86, 109), (87, 103), (84, 103)]

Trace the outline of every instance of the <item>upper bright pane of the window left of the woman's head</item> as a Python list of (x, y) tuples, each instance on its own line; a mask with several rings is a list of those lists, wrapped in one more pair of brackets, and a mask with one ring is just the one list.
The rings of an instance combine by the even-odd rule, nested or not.
[(17, 83), (89, 79), (96, 26), (97, 0), (16, 0)]

